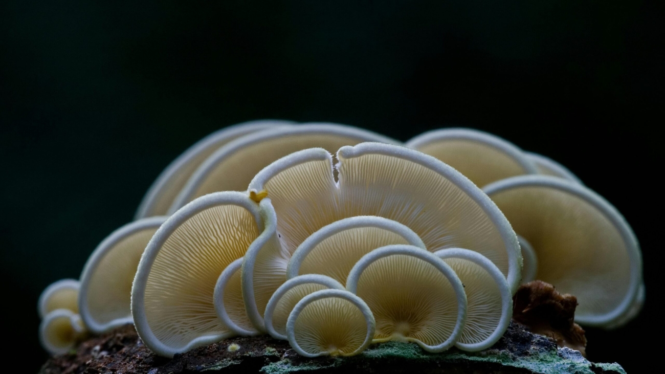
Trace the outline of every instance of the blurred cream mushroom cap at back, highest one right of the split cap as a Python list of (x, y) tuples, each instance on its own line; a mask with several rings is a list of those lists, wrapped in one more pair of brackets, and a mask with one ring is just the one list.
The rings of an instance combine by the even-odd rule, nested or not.
[(406, 146), (456, 168), (477, 186), (521, 174), (536, 174), (535, 164), (515, 144), (470, 128), (424, 132)]

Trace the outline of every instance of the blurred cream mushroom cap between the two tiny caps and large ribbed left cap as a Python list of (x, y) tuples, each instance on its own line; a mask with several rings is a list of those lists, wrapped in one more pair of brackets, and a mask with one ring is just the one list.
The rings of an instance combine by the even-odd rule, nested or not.
[(166, 218), (143, 218), (118, 228), (88, 258), (80, 277), (78, 310), (93, 333), (134, 323), (130, 304), (136, 268)]

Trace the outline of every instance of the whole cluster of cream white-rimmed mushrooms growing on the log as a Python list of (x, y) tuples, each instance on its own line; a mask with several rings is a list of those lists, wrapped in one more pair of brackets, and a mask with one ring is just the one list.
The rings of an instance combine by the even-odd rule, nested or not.
[[(616, 209), (553, 160), (469, 129), (400, 144), (337, 124), (231, 126), (168, 166), (136, 218), (90, 256), (66, 349), (76, 327), (134, 323), (165, 357), (263, 333), (307, 357), (390, 340), (479, 351), (526, 281), (577, 295), (587, 325), (622, 325), (644, 302)], [(65, 302), (47, 291), (40, 308)]]

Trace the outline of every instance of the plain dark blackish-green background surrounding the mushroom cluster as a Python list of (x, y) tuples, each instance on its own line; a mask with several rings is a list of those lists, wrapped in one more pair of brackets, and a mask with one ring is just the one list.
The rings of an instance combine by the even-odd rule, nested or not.
[(3, 333), (35, 357), (21, 371), (47, 357), (41, 290), (78, 278), (171, 160), (284, 118), (399, 140), (470, 126), (563, 162), (641, 242), (644, 311), (587, 330), (591, 360), (636, 373), (662, 331), (661, 22), (642, 1), (2, 1)]

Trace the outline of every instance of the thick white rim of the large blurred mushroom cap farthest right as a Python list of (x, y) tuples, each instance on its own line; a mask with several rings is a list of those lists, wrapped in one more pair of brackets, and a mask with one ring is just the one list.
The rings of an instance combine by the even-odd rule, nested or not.
[(602, 198), (602, 196), (596, 192), (593, 192), (581, 184), (554, 176), (533, 175), (506, 178), (505, 180), (499, 180), (498, 182), (485, 186), (483, 190), (487, 195), (493, 195), (511, 188), (519, 187), (548, 187), (567, 192), (591, 204), (591, 206), (598, 209), (611, 222), (620, 234), (624, 246), (626, 247), (626, 251), (628, 252), (628, 259), (630, 260), (630, 281), (628, 284), (628, 292), (614, 310), (605, 313), (604, 315), (575, 315), (575, 321), (590, 326), (602, 327), (602, 325), (612, 323), (616, 319), (621, 318), (625, 313), (628, 313), (639, 293), (638, 291), (642, 280), (642, 254), (640, 252), (637, 238), (625, 218), (618, 212), (618, 210), (616, 210), (616, 208), (614, 208), (614, 206), (612, 206), (612, 204), (607, 202), (607, 200)]

